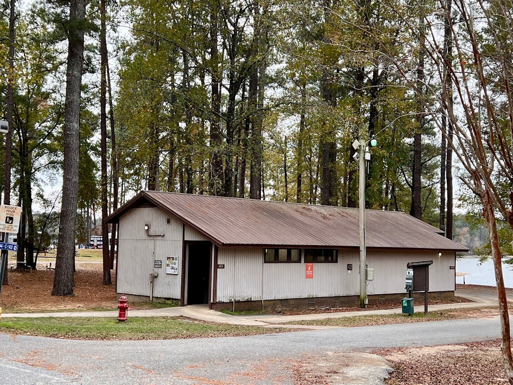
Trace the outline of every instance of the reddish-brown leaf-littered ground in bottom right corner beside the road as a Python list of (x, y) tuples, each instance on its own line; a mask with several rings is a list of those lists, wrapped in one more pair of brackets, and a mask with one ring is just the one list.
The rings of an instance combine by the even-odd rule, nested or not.
[(377, 351), (392, 364), (387, 385), (502, 385), (499, 340)]

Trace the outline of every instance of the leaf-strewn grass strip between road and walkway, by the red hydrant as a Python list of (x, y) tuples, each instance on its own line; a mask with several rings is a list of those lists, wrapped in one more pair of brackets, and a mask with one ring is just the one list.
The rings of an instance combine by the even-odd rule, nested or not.
[(183, 339), (232, 337), (282, 332), (283, 329), (207, 323), (186, 317), (115, 318), (4, 318), (0, 332), (53, 338), (90, 340)]

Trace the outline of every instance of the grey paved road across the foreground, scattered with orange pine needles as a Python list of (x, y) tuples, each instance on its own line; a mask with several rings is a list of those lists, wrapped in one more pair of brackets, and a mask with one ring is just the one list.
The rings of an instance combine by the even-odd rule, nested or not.
[(166, 341), (0, 334), (0, 385), (289, 385), (296, 362), (327, 352), (490, 340), (499, 332), (495, 317)]

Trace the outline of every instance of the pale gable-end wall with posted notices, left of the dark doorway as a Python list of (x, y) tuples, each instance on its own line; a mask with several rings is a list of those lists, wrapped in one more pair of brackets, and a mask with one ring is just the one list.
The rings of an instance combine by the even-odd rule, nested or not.
[[(170, 218), (170, 223), (167, 223)], [(144, 225), (150, 226), (148, 236)], [(149, 275), (159, 272), (153, 295), (180, 298), (181, 274), (167, 276), (168, 255), (182, 255), (182, 222), (156, 207), (134, 208), (120, 218), (117, 262), (117, 291), (119, 293), (150, 296)], [(155, 253), (155, 254), (154, 254)], [(162, 258), (162, 268), (154, 269), (155, 256)], [(180, 264), (179, 264), (180, 266)], [(167, 277), (166, 277), (167, 276)], [(178, 287), (178, 291), (176, 291)]]

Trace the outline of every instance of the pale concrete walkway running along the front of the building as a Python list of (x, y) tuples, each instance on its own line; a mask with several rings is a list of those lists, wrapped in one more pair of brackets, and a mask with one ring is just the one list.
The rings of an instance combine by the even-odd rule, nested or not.
[[(447, 303), (439, 305), (430, 305), (429, 311), (452, 310), (468, 307), (485, 307), (497, 306), (497, 297), (494, 296), (495, 289), (487, 286), (476, 287), (474, 285), (468, 288), (458, 288), (456, 295), (470, 299), (474, 302), (463, 303)], [(423, 312), (424, 305), (415, 306), (416, 312)], [(183, 316), (192, 319), (198, 319), (207, 322), (228, 323), (232, 325), (248, 325), (248, 326), (267, 326), (272, 327), (275, 324), (281, 324), (294, 321), (311, 321), (328, 318), (356, 317), (363, 315), (380, 315), (380, 314), (398, 314), (402, 310), (364, 310), (355, 312), (338, 312), (338, 313), (317, 313), (317, 314), (301, 314), (294, 316), (270, 315), (270, 314), (252, 314), (243, 316), (233, 316), (214, 310), (208, 309), (207, 305), (189, 305), (177, 307), (165, 307), (164, 309), (150, 310), (129, 310), (128, 317), (177, 317)], [(62, 313), (8, 313), (2, 314), (2, 318), (19, 317), (19, 318), (44, 318), (44, 317), (117, 317), (117, 311), (107, 312), (62, 312)], [(308, 329), (328, 329), (332, 326), (301, 326), (288, 325), (290, 328), (308, 328)]]

